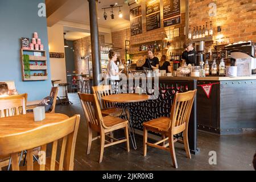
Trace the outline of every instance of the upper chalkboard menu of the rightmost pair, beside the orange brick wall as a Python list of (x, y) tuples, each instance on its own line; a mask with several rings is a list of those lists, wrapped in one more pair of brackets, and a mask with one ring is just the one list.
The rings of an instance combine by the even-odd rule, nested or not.
[(163, 0), (163, 19), (180, 14), (180, 0)]

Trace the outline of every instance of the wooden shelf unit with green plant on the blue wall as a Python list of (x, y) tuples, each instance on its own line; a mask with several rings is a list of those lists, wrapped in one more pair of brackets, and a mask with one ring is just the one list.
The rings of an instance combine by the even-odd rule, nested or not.
[[(27, 53), (24, 53), (24, 52), (27, 52)], [(31, 55), (31, 53), (34, 54), (34, 52), (39, 52), (41, 56)], [(32, 72), (32, 74), (30, 76), (25, 75), (23, 55), (28, 55), (30, 64), (33, 64), (33, 65), (30, 65), (30, 71)], [(35, 64), (36, 62), (39, 62), (39, 64), (36, 65)], [(40, 65), (40, 63), (43, 65)], [(48, 79), (46, 51), (20, 49), (20, 64), (22, 67), (22, 80), (23, 81), (37, 81), (37, 80), (39, 81), (39, 80), (47, 80)], [(35, 76), (33, 72), (36, 73), (36, 75), (38, 75), (38, 73), (39, 73), (39, 76)]]

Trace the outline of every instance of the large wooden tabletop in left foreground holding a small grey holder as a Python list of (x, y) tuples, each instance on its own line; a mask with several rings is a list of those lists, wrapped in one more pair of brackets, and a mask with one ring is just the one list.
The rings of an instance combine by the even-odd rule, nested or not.
[(68, 119), (65, 114), (46, 113), (46, 119), (34, 122), (34, 114), (15, 115), (13, 117), (0, 118), (0, 138), (31, 131), (44, 125), (50, 125)]

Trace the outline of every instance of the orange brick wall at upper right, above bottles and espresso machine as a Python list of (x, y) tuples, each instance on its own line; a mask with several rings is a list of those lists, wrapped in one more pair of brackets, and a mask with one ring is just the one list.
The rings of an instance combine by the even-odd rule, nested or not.
[[(217, 15), (210, 17), (209, 3), (216, 3)], [(256, 42), (256, 0), (189, 0), (189, 25), (202, 26), (212, 20), (214, 39), (217, 26), (230, 43), (251, 40)], [(215, 42), (214, 42), (215, 43)]]

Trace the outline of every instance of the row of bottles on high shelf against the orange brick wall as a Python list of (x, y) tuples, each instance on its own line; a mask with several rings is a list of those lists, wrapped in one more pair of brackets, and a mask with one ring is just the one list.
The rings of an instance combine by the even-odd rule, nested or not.
[[(202, 29), (203, 27), (203, 29)], [(205, 26), (197, 26), (193, 27), (193, 32), (191, 31), (191, 26), (189, 26), (188, 31), (188, 38), (189, 39), (199, 39), (199, 38), (205, 38), (207, 36), (213, 35), (213, 29), (212, 29), (212, 21), (210, 21), (210, 29), (208, 30), (207, 22), (205, 23)]]

